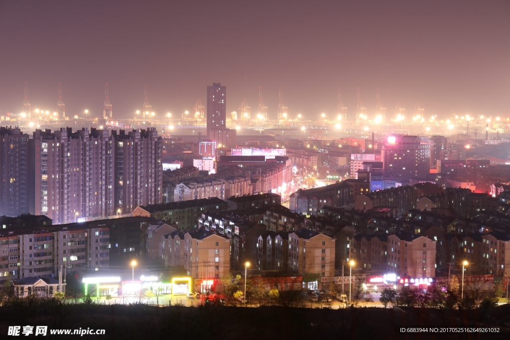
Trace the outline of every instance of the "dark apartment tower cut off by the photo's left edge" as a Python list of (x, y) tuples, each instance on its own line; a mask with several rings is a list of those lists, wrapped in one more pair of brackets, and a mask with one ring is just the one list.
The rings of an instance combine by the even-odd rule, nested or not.
[(29, 136), (0, 126), (0, 216), (29, 213)]

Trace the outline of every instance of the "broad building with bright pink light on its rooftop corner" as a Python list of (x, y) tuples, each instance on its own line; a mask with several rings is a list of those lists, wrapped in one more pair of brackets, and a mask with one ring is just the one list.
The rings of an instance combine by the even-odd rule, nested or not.
[(430, 144), (418, 136), (388, 136), (381, 161), (385, 179), (409, 184), (411, 178), (424, 178), (430, 172)]

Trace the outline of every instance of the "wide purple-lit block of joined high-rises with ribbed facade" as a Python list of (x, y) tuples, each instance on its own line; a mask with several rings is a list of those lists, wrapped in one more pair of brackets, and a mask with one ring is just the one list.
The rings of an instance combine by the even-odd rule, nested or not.
[(155, 128), (111, 136), (94, 128), (90, 133), (36, 130), (30, 145), (35, 154), (31, 213), (66, 223), (161, 202), (161, 137)]

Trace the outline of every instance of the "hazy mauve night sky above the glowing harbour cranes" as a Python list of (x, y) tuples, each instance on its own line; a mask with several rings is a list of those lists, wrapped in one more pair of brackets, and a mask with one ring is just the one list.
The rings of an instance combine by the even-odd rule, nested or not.
[(227, 112), (263, 86), (269, 116), (283, 86), (291, 116), (336, 113), (337, 89), (353, 113), (356, 87), (369, 112), (380, 88), (426, 113), (510, 112), (508, 1), (45, 1), (0, 2), (0, 112), (103, 112), (109, 83), (116, 117), (141, 109), (143, 85), (161, 115), (205, 103), (227, 87)]

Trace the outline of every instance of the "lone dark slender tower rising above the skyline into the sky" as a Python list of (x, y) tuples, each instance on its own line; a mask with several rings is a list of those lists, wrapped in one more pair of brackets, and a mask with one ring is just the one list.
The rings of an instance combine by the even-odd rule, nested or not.
[(213, 83), (207, 87), (207, 134), (210, 130), (225, 128), (226, 86)]

